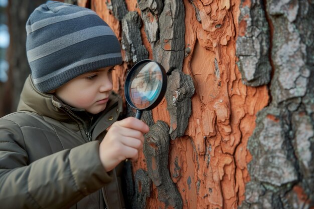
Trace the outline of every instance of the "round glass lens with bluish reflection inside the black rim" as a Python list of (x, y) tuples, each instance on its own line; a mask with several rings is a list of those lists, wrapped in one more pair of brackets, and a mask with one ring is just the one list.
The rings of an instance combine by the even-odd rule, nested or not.
[(162, 89), (162, 71), (154, 62), (138, 66), (130, 79), (130, 100), (137, 109), (149, 107)]

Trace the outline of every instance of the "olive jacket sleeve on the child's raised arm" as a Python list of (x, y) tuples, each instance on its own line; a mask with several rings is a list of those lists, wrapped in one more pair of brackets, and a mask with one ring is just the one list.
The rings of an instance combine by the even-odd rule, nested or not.
[(111, 177), (99, 159), (99, 142), (28, 163), (20, 127), (0, 120), (0, 202), (5, 208), (67, 208)]

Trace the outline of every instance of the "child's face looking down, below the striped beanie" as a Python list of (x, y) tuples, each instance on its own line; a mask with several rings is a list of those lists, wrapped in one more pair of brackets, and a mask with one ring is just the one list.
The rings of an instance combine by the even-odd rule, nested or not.
[(106, 108), (112, 90), (112, 66), (84, 73), (60, 88), (56, 95), (68, 105), (97, 114)]

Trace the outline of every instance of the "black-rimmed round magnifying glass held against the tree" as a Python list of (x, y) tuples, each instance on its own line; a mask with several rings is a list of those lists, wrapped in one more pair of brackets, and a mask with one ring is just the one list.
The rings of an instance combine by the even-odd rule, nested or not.
[(167, 89), (167, 74), (162, 65), (153, 60), (141, 60), (126, 76), (124, 95), (126, 102), (136, 109), (140, 119), (143, 110), (151, 110), (163, 99)]

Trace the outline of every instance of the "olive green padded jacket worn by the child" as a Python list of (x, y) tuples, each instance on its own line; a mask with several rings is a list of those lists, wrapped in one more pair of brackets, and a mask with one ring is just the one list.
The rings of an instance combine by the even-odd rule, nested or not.
[(30, 76), (18, 112), (0, 119), (0, 207), (123, 208), (117, 171), (99, 159), (99, 140), (121, 111), (112, 93), (92, 118), (39, 92)]

